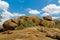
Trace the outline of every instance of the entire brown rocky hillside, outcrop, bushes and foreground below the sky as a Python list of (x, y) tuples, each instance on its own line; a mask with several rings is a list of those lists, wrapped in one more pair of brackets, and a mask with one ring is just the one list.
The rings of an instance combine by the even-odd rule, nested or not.
[(51, 16), (21, 16), (3, 23), (0, 40), (60, 40), (60, 21)]

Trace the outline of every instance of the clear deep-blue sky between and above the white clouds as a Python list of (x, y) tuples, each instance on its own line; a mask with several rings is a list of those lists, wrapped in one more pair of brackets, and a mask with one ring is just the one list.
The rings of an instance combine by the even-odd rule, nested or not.
[[(3, 0), (3, 1), (6, 1), (9, 3), (9, 8), (8, 8), (9, 12), (22, 13), (26, 15), (30, 15), (27, 10), (28, 8), (32, 10), (41, 11), (45, 6), (49, 4), (59, 5), (58, 0)], [(43, 13), (36, 14), (36, 16), (41, 17), (41, 14)]]

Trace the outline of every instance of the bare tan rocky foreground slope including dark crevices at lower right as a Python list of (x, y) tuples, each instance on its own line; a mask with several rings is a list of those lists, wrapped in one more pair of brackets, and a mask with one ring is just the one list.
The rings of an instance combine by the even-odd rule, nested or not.
[(0, 40), (60, 40), (60, 30), (57, 28), (36, 26), (10, 32), (0, 33)]

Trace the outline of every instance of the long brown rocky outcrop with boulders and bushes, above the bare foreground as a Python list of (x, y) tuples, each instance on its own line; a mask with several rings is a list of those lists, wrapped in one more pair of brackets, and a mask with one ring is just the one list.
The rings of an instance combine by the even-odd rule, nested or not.
[(54, 21), (52, 21), (51, 16), (45, 16), (43, 19), (40, 19), (37, 16), (21, 16), (19, 18), (14, 18), (7, 20), (3, 23), (3, 28), (5, 29), (22, 29), (26, 27), (32, 27), (32, 26), (47, 26), (47, 25), (53, 25)]

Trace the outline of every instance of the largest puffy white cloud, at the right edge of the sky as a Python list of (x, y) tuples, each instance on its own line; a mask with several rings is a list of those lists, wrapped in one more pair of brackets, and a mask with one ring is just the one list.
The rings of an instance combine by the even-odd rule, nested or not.
[[(56, 4), (49, 4), (47, 6), (45, 6), (43, 9), (43, 14), (42, 16), (47, 16), (47, 15), (59, 15), (60, 14), (60, 6), (57, 6)], [(57, 19), (57, 18), (60, 18), (60, 17), (53, 17), (53, 19)]]

